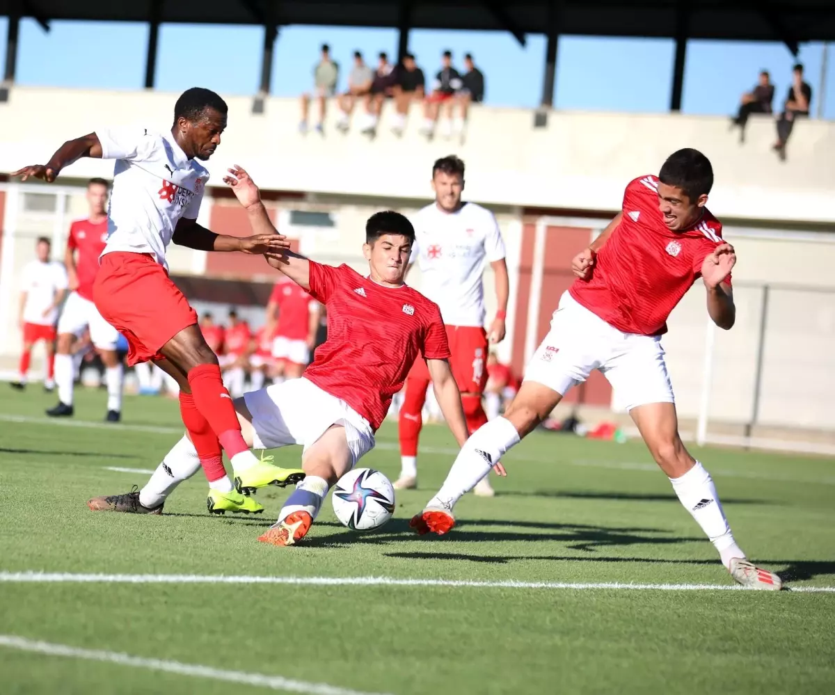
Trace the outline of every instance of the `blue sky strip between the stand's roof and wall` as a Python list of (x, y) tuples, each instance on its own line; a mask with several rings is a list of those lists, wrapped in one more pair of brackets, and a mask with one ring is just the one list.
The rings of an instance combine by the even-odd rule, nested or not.
[[(7, 19), (0, 18), (0, 57), (5, 55)], [(50, 33), (23, 20), (18, 83), (60, 87), (139, 89), (144, 80), (148, 28), (136, 23), (53, 22)], [(200, 85), (221, 94), (254, 94), (259, 82), (263, 29), (165, 24), (159, 30), (157, 87), (178, 92)], [(330, 43), (342, 65), (342, 81), (354, 49), (367, 58), (381, 50), (397, 53), (393, 29), (281, 28), (276, 41), (272, 93), (301, 94), (311, 82), (320, 43)], [(545, 40), (529, 35), (519, 46), (509, 33), (416, 30), (412, 53), (427, 73), (450, 48), (460, 64), (471, 52), (487, 80), (487, 103), (534, 107), (539, 104)], [(556, 106), (629, 112), (663, 112), (669, 106), (673, 43), (664, 39), (564, 37), (559, 41)], [(824, 117), (835, 119), (835, 45), (829, 52)], [(118, 58), (117, 58), (118, 57)], [(822, 44), (802, 45), (800, 60), (817, 98)], [(795, 58), (782, 43), (691, 41), (682, 110), (689, 114), (730, 114), (742, 91), (751, 89), (760, 68), (777, 84), (775, 106), (791, 81)]]

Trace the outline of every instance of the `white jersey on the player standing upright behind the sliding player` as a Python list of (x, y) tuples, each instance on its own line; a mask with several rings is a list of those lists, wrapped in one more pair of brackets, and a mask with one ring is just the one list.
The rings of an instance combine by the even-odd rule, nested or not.
[(434, 203), (412, 218), (415, 243), (409, 262), (421, 270), (420, 291), (441, 307), (448, 326), (484, 325), (484, 262), (504, 258), (504, 241), (493, 213), (464, 203), (448, 213)]

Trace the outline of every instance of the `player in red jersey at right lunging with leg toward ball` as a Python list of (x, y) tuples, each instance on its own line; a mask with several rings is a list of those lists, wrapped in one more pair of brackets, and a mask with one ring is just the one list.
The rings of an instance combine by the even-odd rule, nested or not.
[(561, 298), (514, 402), (468, 439), (441, 490), (412, 519), (418, 533), (452, 529), (453, 506), (461, 496), (547, 418), (569, 388), (599, 369), (624, 399), (653, 458), (731, 576), (754, 589), (781, 588), (780, 577), (746, 560), (710, 474), (681, 443), (660, 343), (667, 317), (699, 277), (713, 322), (729, 329), (736, 319), (731, 292), (736, 254), (705, 207), (712, 185), (706, 156), (679, 150), (657, 177), (641, 176), (626, 187), (622, 211), (574, 258), (577, 280)]

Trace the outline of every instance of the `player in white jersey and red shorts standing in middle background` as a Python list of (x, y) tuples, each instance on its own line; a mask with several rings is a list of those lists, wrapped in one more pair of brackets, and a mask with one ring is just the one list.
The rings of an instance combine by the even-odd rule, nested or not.
[[(504, 339), (504, 319), (508, 309), (508, 266), (504, 261), (504, 241), (493, 213), (481, 205), (461, 200), (464, 188), (464, 163), (458, 157), (443, 157), (432, 168), (435, 202), (417, 212), (415, 245), (410, 263), (421, 270), (420, 290), (441, 307), (447, 327), (449, 360), (461, 391), (467, 426), (474, 432), (487, 422), (482, 394), (487, 383), (488, 341)], [(496, 316), (484, 331), (485, 263), (496, 278)], [(429, 385), (429, 373), (422, 358), (417, 358), (406, 379), (399, 415), (400, 478), (398, 489), (417, 487), (417, 439), (423, 427), (421, 411)], [(478, 495), (491, 496), (493, 488), (485, 477), (476, 486)]]

